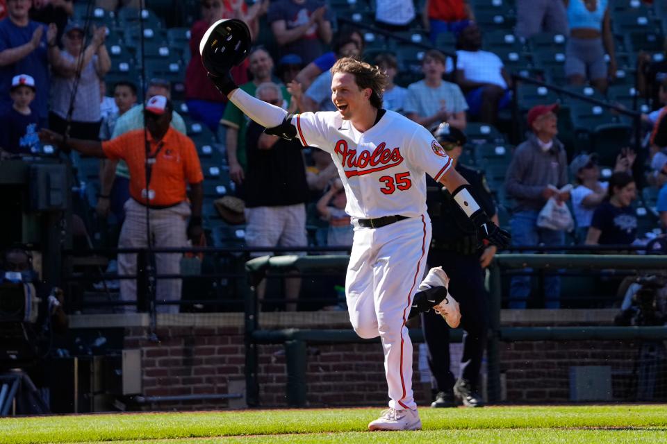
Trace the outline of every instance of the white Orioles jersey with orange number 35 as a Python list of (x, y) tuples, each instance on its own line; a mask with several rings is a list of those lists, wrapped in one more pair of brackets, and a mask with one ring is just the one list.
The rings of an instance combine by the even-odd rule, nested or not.
[(347, 194), (345, 212), (359, 219), (426, 214), (426, 177), (439, 180), (452, 160), (423, 126), (387, 111), (365, 133), (340, 113), (304, 112), (292, 119), (304, 146), (333, 157)]

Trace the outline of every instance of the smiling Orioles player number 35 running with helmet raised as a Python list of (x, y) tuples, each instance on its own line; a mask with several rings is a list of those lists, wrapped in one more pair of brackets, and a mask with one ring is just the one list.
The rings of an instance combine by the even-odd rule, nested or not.
[(233, 63), (248, 50), (247, 35), (245, 24), (233, 19), (209, 28), (199, 46), (209, 78), (250, 119), (267, 128), (265, 133), (296, 137), (304, 146), (331, 154), (347, 195), (345, 211), (354, 225), (345, 279), (350, 321), (362, 338), (380, 336), (384, 349), (389, 409), (368, 428), (421, 429), (405, 323), (431, 307), (452, 327), (461, 318), (442, 268), (431, 269), (420, 284), (431, 241), (425, 174), (450, 190), (475, 223), (480, 241), (503, 248), (509, 233), (488, 219), (428, 130), (381, 108), (386, 75), (378, 67), (339, 59), (331, 68), (336, 111), (292, 115), (249, 96), (229, 76)]

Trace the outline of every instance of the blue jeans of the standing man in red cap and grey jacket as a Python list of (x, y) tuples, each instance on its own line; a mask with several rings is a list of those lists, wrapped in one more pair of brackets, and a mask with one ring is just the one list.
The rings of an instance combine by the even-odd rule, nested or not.
[[(536, 210), (524, 210), (514, 214), (510, 221), (512, 245), (563, 245), (565, 242), (565, 232), (539, 228), (537, 226), (538, 213)], [(525, 268), (524, 271), (530, 273), (532, 268)], [(546, 276), (544, 287), (545, 307), (559, 308), (561, 305), (561, 279), (557, 276)], [(509, 289), (509, 308), (526, 308), (530, 289), (530, 276), (515, 276), (512, 278)]]

